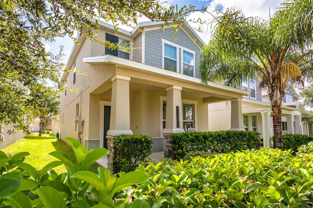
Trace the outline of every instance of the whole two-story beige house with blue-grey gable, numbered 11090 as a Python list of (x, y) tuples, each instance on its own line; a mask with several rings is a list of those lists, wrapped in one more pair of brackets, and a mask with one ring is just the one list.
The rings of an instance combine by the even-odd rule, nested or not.
[(113, 152), (109, 163), (118, 134), (152, 136), (153, 150), (167, 154), (164, 136), (188, 129), (208, 131), (208, 104), (229, 100), (235, 107), (231, 119), (225, 120), (232, 129), (242, 128), (241, 100), (250, 92), (202, 83), (198, 65), (204, 43), (190, 27), (180, 27), (175, 40), (172, 26), (164, 22), (141, 22), (131, 32), (118, 33), (105, 22), (98, 24), (101, 39), (141, 49), (110, 50), (84, 35), (78, 37), (80, 44), (74, 45), (67, 63), (74, 73), (63, 76), (67, 87), (78, 93), (61, 94), (61, 139), (71, 136), (88, 149), (108, 148)]

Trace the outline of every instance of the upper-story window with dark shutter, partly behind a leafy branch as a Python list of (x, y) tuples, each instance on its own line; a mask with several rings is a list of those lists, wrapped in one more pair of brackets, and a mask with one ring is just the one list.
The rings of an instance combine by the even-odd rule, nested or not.
[[(122, 47), (130, 47), (130, 42), (128, 40), (124, 40), (120, 37), (117, 37), (115, 35), (111, 35), (110, 33), (105, 33), (105, 40), (110, 41), (111, 43), (118, 43), (120, 46)], [(105, 54), (109, 54), (109, 55), (113, 55), (113, 56), (117, 56), (117, 57), (121, 57), (121, 58), (125, 58), (125, 59), (129, 59), (129, 54), (130, 51), (124, 51), (122, 49), (110, 49), (110, 48), (105, 48)]]

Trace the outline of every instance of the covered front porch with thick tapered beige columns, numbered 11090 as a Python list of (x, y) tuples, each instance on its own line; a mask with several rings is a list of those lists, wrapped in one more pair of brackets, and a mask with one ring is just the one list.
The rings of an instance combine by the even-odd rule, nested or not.
[[(116, 57), (112, 59), (119, 61)], [(90, 60), (90, 64), (95, 64), (95, 60)], [(116, 135), (151, 136), (152, 157), (160, 158), (161, 152), (166, 152), (165, 134), (188, 129), (208, 131), (209, 103), (230, 100), (234, 106), (232, 129), (243, 130), (241, 99), (249, 92), (215, 83), (204, 85), (195, 77), (141, 63), (136, 63), (134, 67), (115, 63), (112, 67), (113, 63), (100, 62), (98, 68), (99, 64), (103, 65), (103, 70), (114, 68), (114, 75), (89, 94), (89, 124), (86, 130), (89, 133), (83, 142), (88, 144), (88, 149), (105, 147), (110, 150), (108, 168), (110, 163), (113, 165), (115, 148), (112, 144)], [(104, 158), (101, 164), (105, 162)]]

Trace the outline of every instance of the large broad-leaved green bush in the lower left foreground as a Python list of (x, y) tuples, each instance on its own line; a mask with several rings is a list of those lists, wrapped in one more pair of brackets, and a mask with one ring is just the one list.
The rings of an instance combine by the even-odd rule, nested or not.
[[(65, 138), (74, 150), (77, 165), (60, 151), (50, 155), (60, 161), (53, 161), (37, 171), (24, 163), (28, 152), (7, 156), (0, 151), (0, 206), (4, 207), (124, 207), (125, 200), (113, 199), (116, 193), (126, 190), (130, 185), (143, 183), (149, 177), (139, 171), (113, 176), (109, 170), (98, 168), (99, 175), (87, 171), (96, 160), (108, 154), (105, 148), (85, 150), (74, 138)], [(58, 175), (52, 169), (64, 164), (66, 173)], [(17, 168), (17, 169), (16, 169)], [(143, 202), (129, 203), (138, 207)], [(130, 205), (127, 204), (128, 207)]]

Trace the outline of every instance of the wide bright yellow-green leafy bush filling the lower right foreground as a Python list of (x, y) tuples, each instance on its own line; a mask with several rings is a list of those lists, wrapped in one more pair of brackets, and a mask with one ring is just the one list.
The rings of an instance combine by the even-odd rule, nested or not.
[(313, 155), (291, 153), (261, 148), (139, 166), (150, 180), (132, 196), (162, 207), (311, 207)]

